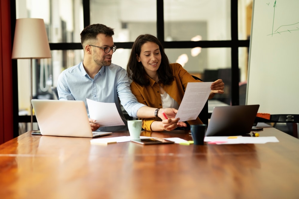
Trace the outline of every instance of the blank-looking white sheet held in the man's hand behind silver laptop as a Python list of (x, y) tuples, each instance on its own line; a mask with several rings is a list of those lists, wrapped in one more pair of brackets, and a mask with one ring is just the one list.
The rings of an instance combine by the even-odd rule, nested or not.
[(94, 119), (100, 127), (125, 125), (117, 111), (115, 103), (105, 103), (87, 99), (89, 118)]

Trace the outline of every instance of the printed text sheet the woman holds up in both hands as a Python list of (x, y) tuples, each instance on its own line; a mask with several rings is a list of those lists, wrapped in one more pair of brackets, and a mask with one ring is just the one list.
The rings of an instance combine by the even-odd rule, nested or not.
[(176, 114), (179, 121), (195, 120), (207, 102), (213, 82), (189, 82)]

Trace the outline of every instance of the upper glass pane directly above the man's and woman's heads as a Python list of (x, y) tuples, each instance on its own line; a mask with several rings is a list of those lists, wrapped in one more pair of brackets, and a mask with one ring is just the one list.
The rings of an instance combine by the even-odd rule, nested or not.
[(145, 33), (156, 36), (156, 21), (155, 1), (90, 1), (90, 23), (114, 28), (114, 42), (135, 41)]

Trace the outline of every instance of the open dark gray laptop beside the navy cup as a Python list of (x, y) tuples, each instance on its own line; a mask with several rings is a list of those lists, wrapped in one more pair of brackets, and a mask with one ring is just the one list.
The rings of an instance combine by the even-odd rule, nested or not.
[(205, 136), (234, 136), (251, 132), (260, 105), (215, 107)]

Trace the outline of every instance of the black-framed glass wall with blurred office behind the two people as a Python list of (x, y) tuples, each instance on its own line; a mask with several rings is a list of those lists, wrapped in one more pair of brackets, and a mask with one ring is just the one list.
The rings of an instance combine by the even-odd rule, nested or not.
[[(225, 94), (214, 100), (245, 104), (252, 0), (16, 0), (11, 12), (16, 19), (44, 19), (48, 33), (52, 58), (33, 59), (33, 98), (57, 99), (52, 88), (58, 75), (83, 60), (81, 31), (101, 23), (115, 29), (113, 63), (126, 68), (135, 38), (150, 33), (161, 40), (171, 62), (203, 81), (223, 79)], [(30, 60), (16, 64), (14, 109), (22, 133), (30, 130)]]

